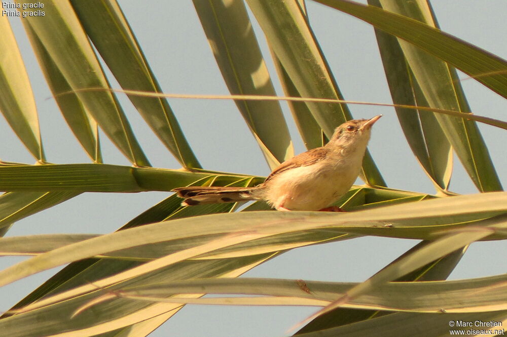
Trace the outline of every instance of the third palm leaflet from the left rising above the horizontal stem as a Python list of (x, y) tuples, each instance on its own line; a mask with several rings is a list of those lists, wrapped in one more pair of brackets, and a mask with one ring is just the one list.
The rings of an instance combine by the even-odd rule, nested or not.
[[(30, 2), (23, 0), (20, 3)], [(48, 2), (45, 3), (44, 12), (45, 16), (27, 16), (22, 23), (29, 26), (37, 35), (68, 85), (73, 90), (90, 87), (109, 88), (102, 68), (70, 4)], [(42, 62), (41, 66), (44, 66)], [(104, 133), (132, 163), (138, 166), (150, 165), (112, 93), (79, 91), (77, 96)]]

